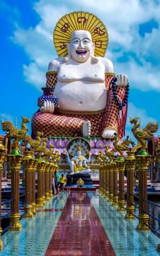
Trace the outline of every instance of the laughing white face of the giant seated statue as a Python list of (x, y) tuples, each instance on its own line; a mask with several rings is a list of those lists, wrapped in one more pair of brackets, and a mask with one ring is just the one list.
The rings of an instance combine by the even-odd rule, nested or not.
[(85, 62), (94, 52), (94, 44), (89, 31), (74, 31), (71, 43), (68, 44), (68, 52), (71, 57), (78, 62)]

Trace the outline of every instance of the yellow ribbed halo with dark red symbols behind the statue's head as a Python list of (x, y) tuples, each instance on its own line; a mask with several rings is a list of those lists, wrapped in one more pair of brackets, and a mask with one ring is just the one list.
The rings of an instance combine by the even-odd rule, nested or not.
[(103, 22), (89, 12), (71, 12), (58, 20), (53, 31), (53, 42), (59, 57), (67, 55), (67, 44), (73, 31), (87, 30), (95, 42), (95, 56), (105, 56), (108, 47), (108, 31)]

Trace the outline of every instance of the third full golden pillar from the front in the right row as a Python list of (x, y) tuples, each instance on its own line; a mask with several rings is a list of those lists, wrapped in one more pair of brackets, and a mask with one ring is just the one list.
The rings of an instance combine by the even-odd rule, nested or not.
[(125, 211), (125, 198), (124, 198), (124, 169), (125, 162), (124, 158), (119, 158), (116, 162), (116, 165), (119, 169), (119, 207), (118, 211)]

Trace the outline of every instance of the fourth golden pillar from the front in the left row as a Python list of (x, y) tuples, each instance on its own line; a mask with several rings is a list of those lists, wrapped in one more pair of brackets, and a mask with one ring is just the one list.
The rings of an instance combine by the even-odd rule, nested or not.
[(46, 163), (45, 162), (38, 162), (37, 165), (37, 171), (38, 171), (38, 182), (37, 182), (37, 204), (36, 207), (42, 207), (44, 206), (44, 198), (43, 198), (43, 174), (44, 174), (44, 167)]

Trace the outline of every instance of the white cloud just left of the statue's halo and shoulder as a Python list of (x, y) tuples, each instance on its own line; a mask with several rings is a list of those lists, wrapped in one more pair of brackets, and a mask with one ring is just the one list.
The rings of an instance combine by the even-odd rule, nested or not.
[(17, 26), (12, 40), (24, 47), (25, 53), (30, 59), (29, 64), (23, 64), (25, 81), (36, 88), (44, 86), (45, 72), (47, 72), (49, 61), (54, 59), (55, 55), (52, 34), (45, 31), (40, 25), (26, 31)]

